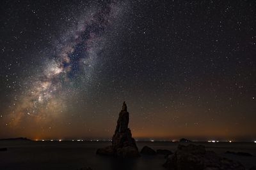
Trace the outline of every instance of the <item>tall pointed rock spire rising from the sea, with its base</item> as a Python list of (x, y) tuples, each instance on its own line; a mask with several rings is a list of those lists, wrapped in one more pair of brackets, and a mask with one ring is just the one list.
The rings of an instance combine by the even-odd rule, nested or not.
[(128, 124), (129, 112), (127, 111), (127, 106), (124, 102), (117, 120), (115, 134), (112, 138), (112, 145), (98, 149), (97, 154), (118, 157), (139, 157), (140, 153), (134, 138), (132, 138)]

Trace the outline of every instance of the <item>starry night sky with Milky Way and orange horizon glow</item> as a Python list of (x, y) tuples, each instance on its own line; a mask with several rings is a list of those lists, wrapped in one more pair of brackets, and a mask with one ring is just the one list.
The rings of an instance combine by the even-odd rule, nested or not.
[(256, 139), (255, 1), (0, 8), (0, 138)]

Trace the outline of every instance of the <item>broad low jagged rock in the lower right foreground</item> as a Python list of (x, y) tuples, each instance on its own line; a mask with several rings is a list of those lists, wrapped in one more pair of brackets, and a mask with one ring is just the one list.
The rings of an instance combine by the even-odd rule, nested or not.
[(239, 162), (206, 151), (202, 145), (179, 145), (177, 151), (167, 158), (163, 166), (172, 170), (245, 169)]

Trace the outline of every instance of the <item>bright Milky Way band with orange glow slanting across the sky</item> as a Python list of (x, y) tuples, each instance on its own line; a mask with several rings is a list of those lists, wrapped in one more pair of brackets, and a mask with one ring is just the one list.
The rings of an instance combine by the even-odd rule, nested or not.
[(22, 91), (20, 102), (13, 101), (10, 124), (17, 125), (28, 116), (44, 121), (65, 110), (65, 101), (79, 92), (76, 83), (86, 89), (93, 79), (97, 56), (108, 41), (105, 32), (113, 20), (122, 16), (122, 5), (111, 1), (90, 6), (69, 31), (55, 40), (52, 56), (45, 56), (42, 70), (25, 80), (29, 85)]

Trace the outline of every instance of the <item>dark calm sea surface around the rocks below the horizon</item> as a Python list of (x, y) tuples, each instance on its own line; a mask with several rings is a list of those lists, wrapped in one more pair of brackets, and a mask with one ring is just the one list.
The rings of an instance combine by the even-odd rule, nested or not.
[[(175, 152), (179, 142), (137, 142), (139, 150), (145, 145), (157, 149)], [(188, 143), (183, 143), (188, 145)], [(256, 143), (194, 143), (204, 145), (223, 157), (238, 160), (246, 168), (256, 166)], [(92, 167), (98, 169), (164, 169), (164, 155), (142, 155), (137, 159), (118, 159), (96, 155), (97, 148), (110, 145), (110, 142), (90, 141), (0, 141), (0, 170), (9, 169), (79, 169)], [(247, 152), (253, 157), (237, 156), (225, 153)]]

